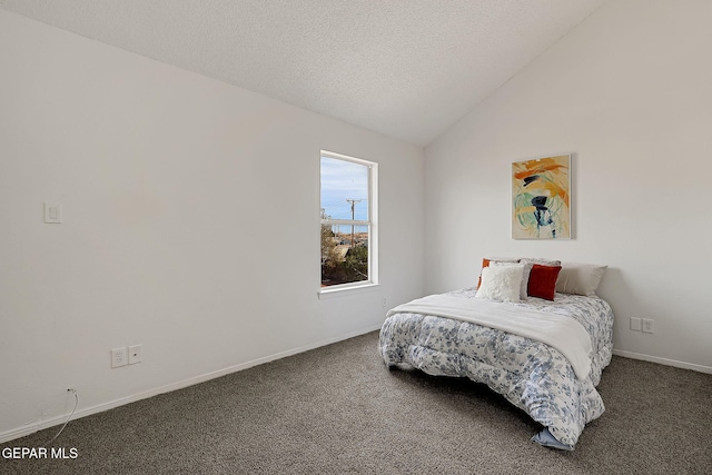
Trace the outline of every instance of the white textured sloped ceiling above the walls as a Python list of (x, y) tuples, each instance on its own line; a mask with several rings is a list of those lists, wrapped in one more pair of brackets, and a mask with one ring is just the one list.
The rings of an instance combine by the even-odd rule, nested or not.
[(426, 146), (607, 0), (0, 0)]

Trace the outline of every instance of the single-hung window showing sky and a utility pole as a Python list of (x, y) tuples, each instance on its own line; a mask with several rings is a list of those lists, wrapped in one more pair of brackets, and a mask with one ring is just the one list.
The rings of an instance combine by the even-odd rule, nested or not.
[(377, 164), (322, 151), (322, 288), (377, 284)]

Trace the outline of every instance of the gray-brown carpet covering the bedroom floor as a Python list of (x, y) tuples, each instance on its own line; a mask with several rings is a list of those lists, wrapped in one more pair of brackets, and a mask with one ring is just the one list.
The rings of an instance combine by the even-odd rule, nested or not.
[[(712, 375), (614, 357), (574, 452), (482, 385), (389, 370), (377, 333), (72, 420), (3, 474), (710, 474)], [(81, 395), (80, 395), (81, 396)], [(81, 400), (81, 399), (80, 399)], [(40, 447), (58, 427), (3, 444)]]

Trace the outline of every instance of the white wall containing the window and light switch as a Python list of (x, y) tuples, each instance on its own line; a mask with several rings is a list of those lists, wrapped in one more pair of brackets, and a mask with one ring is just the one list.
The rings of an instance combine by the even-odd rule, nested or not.
[[(89, 414), (423, 294), (422, 149), (2, 10), (0, 65), (0, 441), (59, 423), (68, 387)], [(320, 149), (379, 164), (374, 291), (317, 298)]]

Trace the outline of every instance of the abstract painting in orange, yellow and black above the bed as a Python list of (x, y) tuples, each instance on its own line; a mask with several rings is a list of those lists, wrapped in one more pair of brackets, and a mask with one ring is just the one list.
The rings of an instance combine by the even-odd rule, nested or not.
[(571, 238), (571, 155), (512, 164), (512, 238)]

